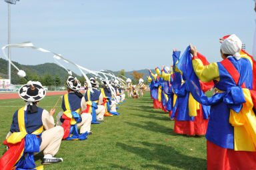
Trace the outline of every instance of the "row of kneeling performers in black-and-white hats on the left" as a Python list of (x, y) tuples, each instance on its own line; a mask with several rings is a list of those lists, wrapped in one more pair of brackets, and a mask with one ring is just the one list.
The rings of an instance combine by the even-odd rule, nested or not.
[(53, 119), (55, 108), (48, 112), (38, 106), (46, 95), (41, 83), (28, 81), (23, 85), (19, 89), (19, 96), (25, 101), (25, 107), (13, 115), (11, 129), (3, 142), (7, 145), (7, 151), (0, 158), (1, 169), (43, 169), (43, 166), (36, 167), (34, 161), (34, 154), (41, 151), (44, 155), (43, 165), (59, 163), (63, 159), (54, 156), (62, 140), (87, 139), (87, 135), (92, 134), (91, 123), (99, 124), (104, 121), (104, 116), (119, 115), (117, 104), (125, 101), (125, 88), (119, 85), (119, 81), (102, 80), (101, 89), (96, 79), (89, 81), (91, 88), (85, 82), (83, 95), (79, 91), (79, 80), (68, 77), (68, 93), (62, 96), (63, 111), (56, 116), (56, 126)]

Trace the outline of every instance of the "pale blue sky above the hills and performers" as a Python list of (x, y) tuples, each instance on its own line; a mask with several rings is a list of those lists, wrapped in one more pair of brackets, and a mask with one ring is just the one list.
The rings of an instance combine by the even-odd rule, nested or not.
[[(251, 53), (253, 2), (21, 0), (11, 5), (11, 43), (31, 41), (92, 70), (169, 66), (173, 48), (184, 51), (189, 43), (215, 62), (221, 60), (219, 37), (223, 35), (235, 33)], [(3, 47), (8, 43), (8, 7), (3, 0), (0, 22)], [(12, 60), (21, 64), (54, 63), (51, 54), (11, 50)]]

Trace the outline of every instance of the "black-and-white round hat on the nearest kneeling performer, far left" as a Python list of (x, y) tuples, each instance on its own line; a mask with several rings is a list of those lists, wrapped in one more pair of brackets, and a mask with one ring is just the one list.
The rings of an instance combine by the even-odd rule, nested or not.
[(25, 101), (39, 101), (45, 97), (46, 92), (39, 81), (29, 81), (19, 88), (19, 97)]

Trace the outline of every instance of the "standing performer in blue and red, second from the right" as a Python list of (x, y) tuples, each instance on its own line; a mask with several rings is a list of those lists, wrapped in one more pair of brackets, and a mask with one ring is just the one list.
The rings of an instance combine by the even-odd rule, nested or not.
[[(173, 63), (177, 63), (179, 54), (179, 51), (173, 51)], [(205, 135), (210, 108), (195, 101), (187, 88), (186, 81), (182, 79), (181, 73), (178, 72), (176, 64), (173, 68), (172, 89), (175, 96), (173, 97), (174, 104), (171, 118), (175, 117), (174, 132), (185, 135)], [(171, 75), (166, 74), (163, 70), (162, 77), (171, 79)], [(207, 89), (204, 90), (207, 91)]]

